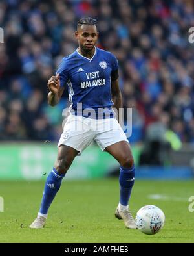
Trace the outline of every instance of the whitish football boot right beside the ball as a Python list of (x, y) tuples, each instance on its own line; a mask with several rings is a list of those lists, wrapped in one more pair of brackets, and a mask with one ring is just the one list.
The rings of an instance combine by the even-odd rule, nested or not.
[(118, 218), (118, 220), (124, 220), (124, 224), (128, 229), (137, 229), (137, 226), (135, 224), (135, 220), (129, 210), (120, 210), (118, 207), (115, 211), (115, 217)]

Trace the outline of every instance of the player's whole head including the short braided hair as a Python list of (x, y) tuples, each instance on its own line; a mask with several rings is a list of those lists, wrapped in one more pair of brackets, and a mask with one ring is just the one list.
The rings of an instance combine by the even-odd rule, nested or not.
[(78, 39), (78, 44), (81, 49), (91, 51), (98, 40), (96, 19), (90, 17), (80, 19), (75, 36)]

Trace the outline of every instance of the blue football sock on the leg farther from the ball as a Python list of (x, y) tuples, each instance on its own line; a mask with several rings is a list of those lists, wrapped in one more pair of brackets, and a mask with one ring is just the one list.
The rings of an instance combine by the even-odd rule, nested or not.
[(65, 177), (65, 175), (59, 174), (55, 168), (53, 168), (48, 175), (45, 184), (45, 190), (43, 192), (43, 198), (41, 201), (41, 208), (39, 209), (39, 214), (47, 214), (54, 197), (59, 191), (63, 177)]

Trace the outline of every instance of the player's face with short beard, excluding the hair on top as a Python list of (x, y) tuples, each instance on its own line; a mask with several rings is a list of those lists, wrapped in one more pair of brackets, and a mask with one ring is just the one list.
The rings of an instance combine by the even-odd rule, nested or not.
[(98, 31), (95, 25), (82, 25), (75, 35), (79, 46), (85, 51), (91, 51), (98, 40)]

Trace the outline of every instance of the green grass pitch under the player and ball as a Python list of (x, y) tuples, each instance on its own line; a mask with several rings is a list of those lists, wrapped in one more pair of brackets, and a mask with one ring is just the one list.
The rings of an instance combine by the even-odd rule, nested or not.
[[(28, 226), (36, 217), (43, 182), (0, 182), (5, 211), (0, 212), (0, 242), (194, 242), (194, 212), (188, 198), (194, 181), (136, 181), (131, 209), (160, 207), (166, 215), (162, 231), (145, 235), (125, 228), (114, 218), (118, 204), (118, 179), (65, 181), (49, 211), (44, 229)], [(159, 194), (162, 198), (151, 199)]]

